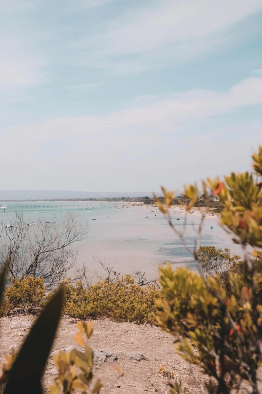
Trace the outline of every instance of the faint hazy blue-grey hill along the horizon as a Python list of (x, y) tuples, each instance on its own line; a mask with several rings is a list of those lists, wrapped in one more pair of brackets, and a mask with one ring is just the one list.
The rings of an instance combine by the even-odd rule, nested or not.
[(82, 192), (75, 190), (0, 190), (0, 202), (8, 200), (65, 200), (77, 198), (152, 197), (151, 192)]

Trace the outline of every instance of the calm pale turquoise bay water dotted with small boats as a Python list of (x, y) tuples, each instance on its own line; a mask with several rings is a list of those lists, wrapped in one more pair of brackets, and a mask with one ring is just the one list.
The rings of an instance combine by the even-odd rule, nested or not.
[[(77, 264), (85, 262), (90, 271), (99, 269), (94, 260), (97, 256), (110, 263), (116, 262), (116, 270), (123, 274), (132, 273), (138, 268), (152, 277), (156, 275), (158, 265), (167, 261), (174, 266), (188, 265), (194, 269), (192, 256), (156, 208), (129, 206), (117, 209), (113, 207), (115, 203), (105, 202), (12, 202), (6, 205), (5, 213), (3, 209), (0, 210), (0, 220), (6, 224), (9, 224), (15, 212), (23, 212), (28, 222), (37, 223), (39, 217), (53, 220), (55, 216), (67, 212), (76, 215), (80, 222), (88, 222), (87, 239), (75, 246), (79, 252)], [(145, 216), (149, 218), (145, 219)], [(172, 216), (174, 224), (181, 228), (182, 213), (172, 212)], [(180, 217), (179, 221), (177, 217)], [(198, 216), (189, 215), (185, 232), (189, 246), (194, 245), (199, 222)], [(202, 245), (228, 247), (233, 253), (241, 255), (240, 247), (233, 244), (213, 218), (205, 219)]]

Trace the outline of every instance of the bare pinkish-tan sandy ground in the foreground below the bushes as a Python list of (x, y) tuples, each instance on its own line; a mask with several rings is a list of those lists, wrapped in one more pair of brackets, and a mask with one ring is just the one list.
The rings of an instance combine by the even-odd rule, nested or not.
[[(10, 348), (18, 348), (24, 340), (34, 317), (30, 315), (9, 316), (1, 318), (1, 358), (10, 352)], [(73, 337), (78, 331), (77, 320), (63, 318), (55, 340), (53, 350), (67, 349), (76, 345)], [(90, 346), (95, 351), (102, 351), (107, 357), (96, 357), (95, 377), (101, 378), (105, 393), (167, 393), (168, 377), (162, 377), (159, 366), (167, 363), (167, 370), (174, 372), (184, 385), (196, 389), (192, 373), (186, 361), (175, 354), (172, 347), (173, 337), (162, 332), (158, 327), (136, 325), (134, 323), (115, 323), (108, 319), (94, 322), (94, 335)], [(98, 352), (96, 352), (97, 354)], [(99, 353), (98, 353), (99, 354)], [(117, 360), (115, 360), (117, 358)], [(137, 361), (135, 359), (141, 359)], [(145, 358), (145, 359), (143, 359)], [(106, 359), (104, 361), (103, 359)], [(115, 365), (118, 364), (124, 376), (117, 380)], [(193, 367), (195, 378), (202, 381), (199, 370)], [(44, 377), (45, 392), (56, 376), (52, 357), (49, 358)], [(172, 380), (172, 379), (171, 379)]]

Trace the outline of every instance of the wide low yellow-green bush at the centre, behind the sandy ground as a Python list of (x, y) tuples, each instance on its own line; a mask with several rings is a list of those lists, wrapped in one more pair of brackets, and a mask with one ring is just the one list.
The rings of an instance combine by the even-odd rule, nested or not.
[(155, 299), (162, 296), (155, 286), (141, 287), (134, 284), (130, 275), (115, 283), (103, 280), (83, 289), (65, 285), (64, 312), (80, 319), (106, 316), (118, 322), (155, 323)]

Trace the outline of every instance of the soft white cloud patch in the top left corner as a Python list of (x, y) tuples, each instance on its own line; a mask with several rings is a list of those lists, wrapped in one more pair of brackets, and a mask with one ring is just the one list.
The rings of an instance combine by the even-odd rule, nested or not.
[(47, 80), (43, 32), (35, 23), (42, 4), (43, 0), (0, 0), (0, 91), (4, 93), (16, 96), (17, 88)]

